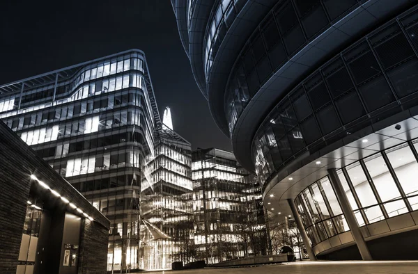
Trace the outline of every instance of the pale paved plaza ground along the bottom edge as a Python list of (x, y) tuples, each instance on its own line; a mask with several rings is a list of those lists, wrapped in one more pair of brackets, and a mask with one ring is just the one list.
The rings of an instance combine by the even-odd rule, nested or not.
[(178, 274), (416, 274), (418, 261), (299, 261), (281, 265), (243, 268), (205, 268), (190, 271), (160, 271)]

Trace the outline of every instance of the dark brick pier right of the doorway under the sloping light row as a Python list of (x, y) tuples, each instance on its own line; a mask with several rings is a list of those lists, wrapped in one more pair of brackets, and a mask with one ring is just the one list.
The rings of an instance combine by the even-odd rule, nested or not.
[(85, 219), (82, 223), (79, 250), (79, 274), (104, 274), (107, 268), (109, 230)]

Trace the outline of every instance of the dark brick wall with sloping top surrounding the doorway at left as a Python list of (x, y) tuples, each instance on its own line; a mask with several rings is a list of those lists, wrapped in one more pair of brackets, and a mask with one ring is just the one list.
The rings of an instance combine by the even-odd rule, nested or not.
[[(0, 274), (16, 273), (26, 202), (33, 183), (31, 174), (94, 218), (94, 222), (88, 220), (84, 227), (81, 245), (86, 245), (82, 248), (85, 264), (80, 273), (104, 273), (109, 220), (0, 121)], [(51, 197), (59, 201), (58, 198)], [(79, 215), (77, 212), (73, 213)], [(86, 259), (88, 256), (92, 259)]]

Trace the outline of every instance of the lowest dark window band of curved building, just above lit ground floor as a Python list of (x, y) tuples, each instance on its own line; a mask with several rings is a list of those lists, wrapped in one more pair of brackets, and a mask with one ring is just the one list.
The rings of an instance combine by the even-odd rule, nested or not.
[[(252, 143), (253, 163), (262, 184), (300, 154), (316, 152), (326, 143), (345, 137), (348, 131), (415, 106), (417, 19), (414, 11), (387, 22), (332, 58), (281, 99)], [(229, 105), (226, 111), (235, 113), (233, 109)], [(395, 189), (393, 184), (387, 187)]]

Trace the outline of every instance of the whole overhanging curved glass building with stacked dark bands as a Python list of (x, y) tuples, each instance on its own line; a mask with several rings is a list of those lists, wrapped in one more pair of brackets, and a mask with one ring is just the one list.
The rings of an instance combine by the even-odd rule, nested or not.
[(417, 259), (417, 1), (171, 2), (215, 122), (309, 257)]

